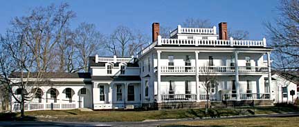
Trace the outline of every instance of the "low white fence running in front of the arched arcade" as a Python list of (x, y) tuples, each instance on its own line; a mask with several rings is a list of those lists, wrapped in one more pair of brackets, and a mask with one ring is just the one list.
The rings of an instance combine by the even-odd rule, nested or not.
[[(25, 111), (31, 110), (68, 110), (75, 109), (76, 104), (55, 104), (55, 103), (26, 103), (24, 104)], [(21, 110), (20, 104), (12, 104), (12, 112), (19, 112)]]

